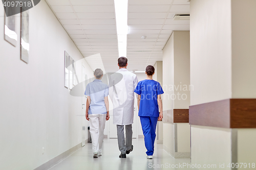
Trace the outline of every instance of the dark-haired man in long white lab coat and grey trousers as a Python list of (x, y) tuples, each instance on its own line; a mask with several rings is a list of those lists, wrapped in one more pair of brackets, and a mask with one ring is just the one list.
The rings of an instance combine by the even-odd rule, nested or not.
[[(134, 117), (134, 90), (138, 84), (135, 74), (128, 71), (127, 58), (118, 58), (119, 70), (110, 76), (109, 95), (113, 103), (113, 124), (117, 125), (119, 158), (133, 151), (132, 124)], [(124, 139), (125, 125), (125, 139)]]

